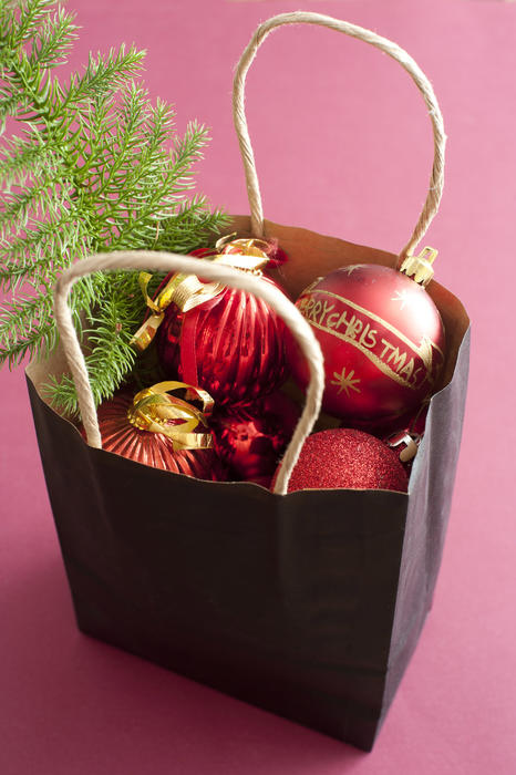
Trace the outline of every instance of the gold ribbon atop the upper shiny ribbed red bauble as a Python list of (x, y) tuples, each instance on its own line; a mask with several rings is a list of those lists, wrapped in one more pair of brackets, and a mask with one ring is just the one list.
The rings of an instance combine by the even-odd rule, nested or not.
[[(231, 239), (234, 236), (228, 235), (217, 241), (216, 250), (224, 250), (225, 252), (216, 254), (211, 260), (235, 269), (250, 271), (254, 275), (261, 275), (262, 267), (269, 261), (269, 257), (266, 254), (267, 242), (261, 239)], [(226, 288), (220, 282), (200, 282), (195, 275), (176, 272), (168, 280), (165, 288), (159, 291), (156, 299), (152, 299), (148, 294), (151, 279), (152, 275), (148, 272), (140, 272), (140, 288), (145, 303), (153, 313), (131, 339), (131, 344), (141, 352), (151, 344), (156, 335), (168, 304), (174, 302), (182, 312), (188, 312), (194, 307), (215, 299)]]

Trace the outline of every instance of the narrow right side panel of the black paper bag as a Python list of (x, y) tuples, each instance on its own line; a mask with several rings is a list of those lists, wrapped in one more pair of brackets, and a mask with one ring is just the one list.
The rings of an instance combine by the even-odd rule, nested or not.
[(452, 382), (432, 397), (425, 435), (410, 479), (409, 514), (382, 721), (432, 606), (461, 446), (469, 340), (468, 330), (458, 351)]

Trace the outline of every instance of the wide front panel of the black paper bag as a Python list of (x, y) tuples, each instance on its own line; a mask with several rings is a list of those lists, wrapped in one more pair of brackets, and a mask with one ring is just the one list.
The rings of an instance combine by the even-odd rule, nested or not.
[(89, 447), (29, 392), (80, 628), (370, 750), (407, 496), (157, 471)]

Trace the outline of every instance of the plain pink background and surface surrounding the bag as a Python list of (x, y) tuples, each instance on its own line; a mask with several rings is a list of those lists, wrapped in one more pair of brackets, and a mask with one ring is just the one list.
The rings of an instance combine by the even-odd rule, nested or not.
[[(168, 673), (76, 630), (22, 370), (0, 372), (0, 772), (341, 775), (516, 772), (514, 378), (516, 4), (500, 0), (70, 0), (72, 61), (122, 41), (213, 143), (200, 187), (247, 211), (233, 68), (260, 20), (316, 10), (405, 46), (450, 136), (436, 275), (474, 321), (471, 386), (434, 608), (372, 754)], [(431, 131), (406, 74), (357, 41), (282, 29), (249, 76), (268, 217), (396, 251), (425, 195)]]

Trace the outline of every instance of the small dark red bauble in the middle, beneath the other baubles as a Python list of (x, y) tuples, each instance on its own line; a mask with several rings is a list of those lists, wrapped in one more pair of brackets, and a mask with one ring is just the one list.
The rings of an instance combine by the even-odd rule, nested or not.
[(227, 478), (268, 487), (299, 414), (297, 404), (280, 392), (249, 405), (216, 410), (210, 425)]

